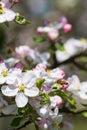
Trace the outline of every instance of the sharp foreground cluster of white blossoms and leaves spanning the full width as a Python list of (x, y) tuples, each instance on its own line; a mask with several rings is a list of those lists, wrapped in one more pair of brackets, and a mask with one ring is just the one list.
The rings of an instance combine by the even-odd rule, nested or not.
[(45, 64), (37, 64), (31, 70), (24, 70), (19, 62), (10, 67), (1, 59), (1, 112), (18, 116), (21, 109), (26, 117), (31, 111), (32, 118), (36, 114), (40, 129), (58, 129), (63, 120), (60, 112), (63, 107), (68, 105), (68, 109), (76, 112), (85, 110), (87, 103), (87, 82), (80, 83), (75, 75), (67, 80), (64, 78), (65, 73), (60, 68), (48, 70)]

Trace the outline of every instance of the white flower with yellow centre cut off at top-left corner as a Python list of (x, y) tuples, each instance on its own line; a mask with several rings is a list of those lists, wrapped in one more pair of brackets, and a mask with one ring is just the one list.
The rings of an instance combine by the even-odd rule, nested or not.
[(0, 2), (0, 23), (12, 21), (15, 19), (16, 13), (5, 7), (3, 2)]

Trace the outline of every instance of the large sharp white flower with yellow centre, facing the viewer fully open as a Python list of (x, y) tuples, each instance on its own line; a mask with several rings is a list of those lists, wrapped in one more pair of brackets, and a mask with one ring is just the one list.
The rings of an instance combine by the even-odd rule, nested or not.
[[(13, 77), (12, 77), (13, 78)], [(3, 95), (13, 97), (18, 107), (24, 107), (28, 103), (28, 97), (36, 97), (39, 94), (39, 89), (35, 86), (36, 76), (33, 71), (23, 73), (15, 84), (2, 86)]]

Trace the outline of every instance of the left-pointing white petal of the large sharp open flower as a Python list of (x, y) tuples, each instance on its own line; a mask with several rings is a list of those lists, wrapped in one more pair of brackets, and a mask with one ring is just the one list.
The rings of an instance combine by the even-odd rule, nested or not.
[(5, 96), (15, 96), (18, 92), (18, 88), (10, 89), (9, 86), (2, 86), (1, 91)]

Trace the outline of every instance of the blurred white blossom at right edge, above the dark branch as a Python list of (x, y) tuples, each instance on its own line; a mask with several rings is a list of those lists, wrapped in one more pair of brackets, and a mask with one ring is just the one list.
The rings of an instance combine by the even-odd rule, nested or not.
[(70, 57), (81, 53), (87, 49), (87, 41), (85, 39), (70, 38), (64, 43), (64, 50), (56, 51), (56, 59), (58, 62), (63, 62)]

